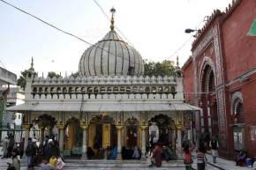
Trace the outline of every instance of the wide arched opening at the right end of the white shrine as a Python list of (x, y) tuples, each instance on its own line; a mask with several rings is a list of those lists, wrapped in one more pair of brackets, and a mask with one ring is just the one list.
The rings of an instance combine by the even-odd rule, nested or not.
[[(157, 142), (164, 145), (175, 146), (175, 122), (168, 115), (155, 115), (148, 123), (149, 129), (152, 125), (154, 126), (154, 123), (158, 127)], [(151, 132), (149, 131), (149, 133)], [(148, 135), (148, 137), (150, 137), (150, 135)], [(152, 137), (149, 138), (149, 143), (152, 143), (152, 139)]]

